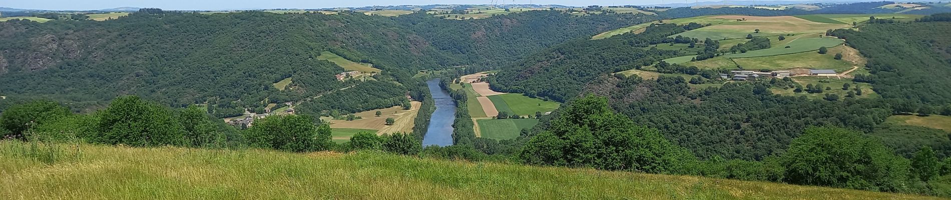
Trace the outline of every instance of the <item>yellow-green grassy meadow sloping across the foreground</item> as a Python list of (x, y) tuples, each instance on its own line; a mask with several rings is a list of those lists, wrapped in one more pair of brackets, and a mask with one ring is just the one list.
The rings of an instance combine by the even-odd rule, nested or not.
[(93, 145), (30, 149), (0, 142), (0, 196), (5, 199), (939, 199), (377, 153)]

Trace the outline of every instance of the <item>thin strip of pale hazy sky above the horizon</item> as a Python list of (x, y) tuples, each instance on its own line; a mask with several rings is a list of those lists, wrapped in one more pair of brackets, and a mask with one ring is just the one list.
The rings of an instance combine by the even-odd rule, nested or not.
[[(502, 0), (498, 0), (501, 3)], [(506, 4), (647, 5), (685, 3), (686, 0), (505, 0)], [(701, 0), (704, 1), (704, 0)], [(706, 0), (712, 1), (712, 0)], [(719, 0), (717, 0), (719, 1)], [(693, 2), (693, 0), (689, 0)], [(0, 0), (0, 7), (14, 9), (112, 9), (119, 7), (159, 9), (325, 9), (340, 7), (490, 4), (490, 0)]]

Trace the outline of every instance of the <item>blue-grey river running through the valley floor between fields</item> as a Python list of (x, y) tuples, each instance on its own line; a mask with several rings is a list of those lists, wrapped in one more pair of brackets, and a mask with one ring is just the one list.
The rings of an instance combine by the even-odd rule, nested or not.
[(429, 92), (436, 101), (436, 111), (429, 120), (426, 136), (422, 138), (422, 146), (453, 145), (453, 122), (456, 119), (456, 101), (449, 97), (449, 93), (439, 87), (439, 79), (426, 82)]

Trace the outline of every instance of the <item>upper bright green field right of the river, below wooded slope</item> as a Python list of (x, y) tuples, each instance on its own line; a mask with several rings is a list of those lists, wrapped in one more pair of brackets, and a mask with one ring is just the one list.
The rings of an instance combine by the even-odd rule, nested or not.
[(535, 112), (547, 113), (558, 109), (561, 104), (553, 100), (538, 100), (525, 97), (522, 94), (506, 94), (490, 96), (489, 100), (495, 103), (495, 108), (519, 116), (534, 116)]

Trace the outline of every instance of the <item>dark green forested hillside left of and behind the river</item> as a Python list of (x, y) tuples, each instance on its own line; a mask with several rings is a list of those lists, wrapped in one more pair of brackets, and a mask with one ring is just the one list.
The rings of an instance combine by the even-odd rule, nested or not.
[[(209, 104), (216, 116), (229, 117), (352, 85), (335, 80), (344, 70), (316, 59), (321, 51), (374, 64), (383, 70), (380, 81), (412, 83), (419, 69), (494, 67), (536, 48), (650, 20), (655, 18), (572, 17), (554, 10), (457, 21), (425, 13), (145, 9), (105, 22), (11, 21), (0, 23), (0, 91), (10, 98), (5, 101), (42, 98), (74, 109), (137, 95), (176, 107)], [(271, 86), (286, 78), (293, 80), (289, 90)]]

